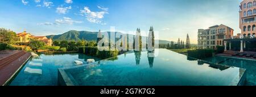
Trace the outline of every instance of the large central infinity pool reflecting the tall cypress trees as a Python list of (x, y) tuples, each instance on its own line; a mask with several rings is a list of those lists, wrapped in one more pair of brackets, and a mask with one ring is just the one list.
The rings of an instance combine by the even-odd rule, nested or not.
[(78, 86), (228, 86), (238, 84), (244, 69), (187, 60), (185, 55), (159, 49), (155, 58), (137, 51), (60, 71), (59, 80)]

